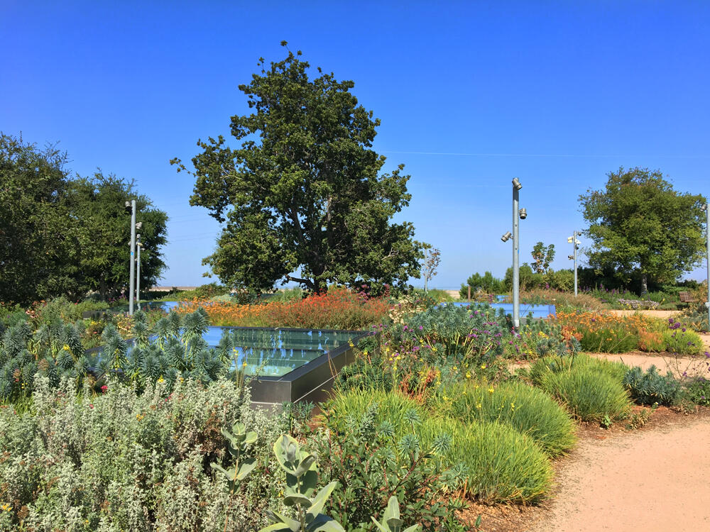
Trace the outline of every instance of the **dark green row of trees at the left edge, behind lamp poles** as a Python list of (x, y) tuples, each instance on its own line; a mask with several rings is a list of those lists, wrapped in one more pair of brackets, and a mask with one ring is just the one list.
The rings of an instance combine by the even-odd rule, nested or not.
[(119, 297), (129, 282), (131, 199), (143, 222), (141, 285), (155, 284), (165, 268), (168, 215), (132, 181), (100, 171), (70, 177), (66, 165), (53, 146), (0, 133), (0, 301)]

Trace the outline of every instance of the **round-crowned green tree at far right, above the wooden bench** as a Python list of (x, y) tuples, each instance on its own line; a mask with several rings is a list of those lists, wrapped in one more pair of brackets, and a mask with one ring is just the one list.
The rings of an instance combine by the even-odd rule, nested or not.
[(589, 189), (579, 201), (590, 224), (591, 267), (611, 267), (624, 282), (638, 272), (642, 294), (650, 279), (674, 281), (702, 258), (705, 199), (677, 192), (659, 171), (619, 168), (604, 189)]

